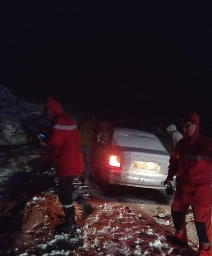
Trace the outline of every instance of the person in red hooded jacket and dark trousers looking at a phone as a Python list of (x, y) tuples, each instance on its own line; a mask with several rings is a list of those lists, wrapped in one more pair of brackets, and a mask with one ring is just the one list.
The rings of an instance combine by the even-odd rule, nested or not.
[(45, 109), (52, 122), (52, 133), (47, 143), (41, 141), (41, 144), (52, 149), (52, 163), (58, 176), (58, 197), (65, 213), (65, 222), (56, 226), (54, 233), (72, 233), (76, 229), (72, 182), (83, 171), (80, 138), (75, 121), (58, 101), (49, 97)]

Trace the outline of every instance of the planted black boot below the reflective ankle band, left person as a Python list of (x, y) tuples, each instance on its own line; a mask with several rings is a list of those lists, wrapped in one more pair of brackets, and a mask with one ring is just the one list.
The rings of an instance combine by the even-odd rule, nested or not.
[(75, 221), (75, 215), (73, 213), (66, 213), (66, 220), (64, 223), (55, 226), (54, 234), (73, 234), (77, 229), (77, 224)]

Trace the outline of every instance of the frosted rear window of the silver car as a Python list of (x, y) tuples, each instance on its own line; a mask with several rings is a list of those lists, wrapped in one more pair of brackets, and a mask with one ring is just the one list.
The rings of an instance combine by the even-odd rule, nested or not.
[(114, 134), (112, 144), (122, 147), (135, 147), (166, 151), (157, 137), (118, 132)]

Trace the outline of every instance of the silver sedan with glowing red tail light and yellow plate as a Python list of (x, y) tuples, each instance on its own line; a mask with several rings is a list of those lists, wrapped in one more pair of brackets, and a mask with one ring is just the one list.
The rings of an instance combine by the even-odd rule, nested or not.
[(99, 133), (92, 149), (92, 175), (102, 184), (165, 189), (169, 158), (154, 134), (112, 128)]

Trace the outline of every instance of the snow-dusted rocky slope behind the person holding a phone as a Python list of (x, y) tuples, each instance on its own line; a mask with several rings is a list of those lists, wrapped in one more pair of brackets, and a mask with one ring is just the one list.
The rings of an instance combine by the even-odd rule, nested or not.
[[(63, 107), (77, 123), (86, 116), (84, 113), (74, 111), (69, 104)], [(48, 125), (46, 118), (41, 115), (43, 104), (19, 100), (10, 89), (2, 85), (0, 85), (0, 110), (0, 145), (29, 142), (27, 136), (30, 132), (35, 132), (39, 124)]]

